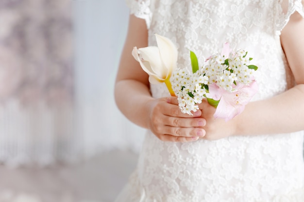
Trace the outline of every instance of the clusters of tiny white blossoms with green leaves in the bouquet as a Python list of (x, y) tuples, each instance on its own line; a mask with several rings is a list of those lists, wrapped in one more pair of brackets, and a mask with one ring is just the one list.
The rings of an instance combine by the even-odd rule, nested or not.
[(203, 67), (192, 74), (186, 69), (177, 69), (170, 81), (182, 112), (192, 115), (191, 111), (197, 111), (196, 104), (208, 97), (208, 85), (212, 83), (229, 92), (235, 91), (237, 83), (249, 85), (256, 70), (256, 66), (248, 64), (251, 60), (246, 51), (237, 50), (229, 56), (210, 56)]

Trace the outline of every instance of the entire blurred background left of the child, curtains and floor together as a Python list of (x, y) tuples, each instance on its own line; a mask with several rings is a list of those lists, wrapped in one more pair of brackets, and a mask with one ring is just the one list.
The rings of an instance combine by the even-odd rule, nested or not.
[(144, 133), (113, 95), (128, 16), (124, 0), (0, 0), (0, 202), (116, 198)]

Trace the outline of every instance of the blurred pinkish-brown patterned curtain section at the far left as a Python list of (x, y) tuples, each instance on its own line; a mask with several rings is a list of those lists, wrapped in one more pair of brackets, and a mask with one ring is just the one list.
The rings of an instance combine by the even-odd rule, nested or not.
[(69, 0), (0, 1), (0, 162), (68, 161), (74, 131)]

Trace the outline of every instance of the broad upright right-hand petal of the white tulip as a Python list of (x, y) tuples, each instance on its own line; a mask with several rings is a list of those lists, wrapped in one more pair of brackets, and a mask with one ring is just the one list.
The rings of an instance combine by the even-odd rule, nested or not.
[(176, 68), (177, 62), (177, 48), (167, 37), (155, 34), (157, 46), (159, 48), (160, 56), (162, 61), (167, 68), (167, 77), (171, 75), (173, 70)]

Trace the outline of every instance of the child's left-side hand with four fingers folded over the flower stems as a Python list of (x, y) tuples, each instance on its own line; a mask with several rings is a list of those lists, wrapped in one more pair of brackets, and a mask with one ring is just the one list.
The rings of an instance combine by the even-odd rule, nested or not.
[(147, 104), (149, 128), (160, 140), (186, 142), (205, 135), (202, 127), (206, 121), (201, 117), (201, 110), (193, 116), (184, 114), (178, 107), (177, 97), (154, 99)]

